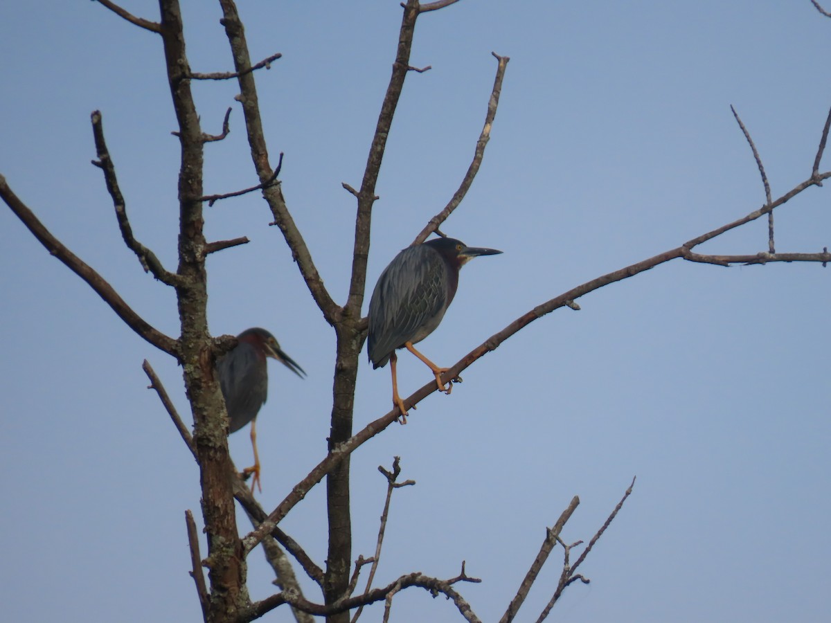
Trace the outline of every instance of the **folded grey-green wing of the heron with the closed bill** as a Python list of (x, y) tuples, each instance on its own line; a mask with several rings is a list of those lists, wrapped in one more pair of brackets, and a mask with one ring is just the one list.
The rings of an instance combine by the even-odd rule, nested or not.
[(444, 259), (425, 245), (404, 249), (384, 269), (369, 303), (368, 352), (376, 368), (396, 348), (423, 340), (439, 326), (447, 282)]

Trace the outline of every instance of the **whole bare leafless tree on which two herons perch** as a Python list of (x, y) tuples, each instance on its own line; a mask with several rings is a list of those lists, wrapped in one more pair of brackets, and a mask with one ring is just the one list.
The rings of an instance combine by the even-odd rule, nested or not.
[[(384, 603), (386, 621), (392, 611), (394, 597), (397, 593), (421, 588), (432, 595), (442, 594), (450, 599), (467, 621), (479, 621), (470, 604), (463, 596), (465, 582), (478, 582), (479, 579), (468, 576), (465, 562), (460, 562), (460, 573), (450, 578), (426, 576), (418, 571), (386, 581), (382, 586), (373, 587), (376, 570), (381, 558), (382, 544), (386, 532), (386, 519), (391, 497), (396, 488), (413, 484), (406, 480), (399, 482), (401, 474), (399, 459), (396, 457), (391, 469), (379, 467), (386, 478), (387, 492), (381, 526), (378, 531), (376, 550), (372, 557), (358, 557), (353, 561), (352, 547), (352, 505), (350, 503), (350, 457), (351, 454), (367, 440), (383, 433), (396, 422), (400, 412), (397, 408), (381, 415), (360, 430), (353, 429), (353, 410), (355, 400), (358, 358), (361, 355), (366, 338), (367, 321), (361, 316), (366, 294), (367, 258), (370, 250), (370, 226), (373, 204), (376, 202), (376, 183), (384, 159), (386, 140), (391, 134), (393, 116), (401, 97), (402, 87), (407, 76), (412, 72), (423, 72), (430, 67), (411, 66), (411, 47), (416, 33), (416, 22), (426, 12), (438, 11), (456, 2), (456, 0), (439, 0), (438, 2), (420, 3), (408, 0), (402, 3), (401, 29), (399, 32), (395, 58), (386, 95), (381, 104), (376, 130), (371, 137), (371, 147), (366, 159), (363, 179), (359, 188), (344, 183), (343, 187), (354, 196), (356, 201), (354, 248), (352, 270), (345, 302), (337, 302), (322, 281), (320, 274), (307, 248), (301, 231), (297, 228), (288, 203), (283, 196), (280, 184), (282, 155), (275, 164), (266, 145), (263, 133), (263, 119), (258, 104), (256, 79), (258, 70), (268, 68), (270, 63), (280, 58), (279, 53), (253, 61), (248, 51), (245, 30), (240, 21), (234, 0), (219, 0), (222, 8), (225, 34), (227, 35), (230, 56), (234, 61), (234, 70), (227, 72), (192, 71), (185, 47), (184, 23), (178, 0), (160, 0), (160, 17), (155, 22), (144, 17), (136, 17), (110, 0), (98, 0), (103, 7), (110, 9), (134, 27), (142, 28), (160, 37), (165, 53), (167, 81), (170, 86), (171, 101), (175, 110), (178, 128), (175, 135), (181, 146), (179, 169), (179, 264), (175, 270), (163, 265), (156, 254), (140, 243), (133, 233), (127, 216), (125, 197), (121, 193), (113, 162), (106, 144), (101, 112), (91, 115), (92, 132), (96, 145), (96, 159), (93, 164), (100, 168), (106, 188), (111, 195), (116, 220), (126, 246), (135, 253), (145, 272), (158, 281), (175, 290), (179, 306), (179, 329), (177, 337), (167, 336), (136, 313), (130, 305), (111, 287), (95, 269), (78, 258), (66, 248), (37, 218), (32, 209), (12, 191), (11, 185), (0, 176), (0, 196), (12, 209), (22, 223), (47, 248), (49, 253), (59, 258), (73, 272), (76, 272), (108, 304), (114, 312), (138, 335), (160, 351), (175, 358), (184, 370), (184, 388), (188, 395), (193, 416), (194, 427), (189, 426), (175, 410), (165, 387), (155, 374), (148, 361), (144, 370), (150, 379), (151, 387), (158, 393), (162, 405), (170, 415), (179, 434), (199, 464), (200, 486), (202, 493), (202, 517), (204, 532), (208, 535), (208, 551), (199, 551), (199, 530), (193, 514), (185, 513), (186, 534), (191, 551), (194, 584), (199, 596), (199, 603), (204, 613), (204, 621), (254, 621), (280, 606), (290, 606), (297, 621), (308, 621), (310, 616), (326, 616), (328, 621), (356, 621), (366, 606)], [(819, 5), (818, 10), (822, 11)], [(475, 142), (474, 155), (470, 165), (460, 180), (459, 188), (435, 216), (427, 218), (424, 228), (414, 237), (412, 244), (425, 241), (430, 234), (439, 230), (442, 223), (450, 217), (465, 199), (479, 166), (484, 158), (491, 129), (494, 126), (502, 91), (503, 79), (509, 66), (509, 57), (493, 54), (496, 69), (494, 84), (486, 106), (484, 124), (478, 140)], [(194, 103), (192, 86), (194, 81), (236, 81), (238, 83), (238, 102), (243, 112), (245, 130), (250, 147), (254, 170), (258, 184), (246, 189), (223, 194), (206, 194), (204, 190), (204, 150), (205, 145), (223, 140), (230, 130), (229, 115), (224, 116), (222, 130), (211, 135), (206, 132)], [(690, 240), (667, 249), (641, 262), (621, 267), (618, 270), (598, 276), (588, 282), (569, 289), (567, 292), (551, 297), (538, 306), (522, 313), (504, 329), (488, 336), (472, 351), (461, 356), (459, 361), (450, 366), (443, 376), (445, 383), (458, 379), (460, 374), (474, 365), (486, 353), (495, 351), (502, 342), (528, 326), (532, 321), (547, 315), (560, 307), (578, 310), (577, 300), (598, 288), (610, 283), (633, 277), (662, 263), (675, 259), (689, 262), (710, 263), (720, 266), (734, 264), (766, 264), (769, 262), (819, 262), (823, 266), (831, 261), (827, 248), (821, 252), (776, 253), (774, 245), (774, 210), (794, 199), (805, 189), (822, 186), (825, 179), (831, 177), (831, 171), (822, 171), (820, 164), (831, 125), (831, 112), (821, 130), (819, 147), (809, 167), (804, 181), (794, 185), (788, 192), (774, 198), (765, 174), (765, 167), (750, 132), (742, 124), (739, 115), (735, 119), (745, 134), (748, 145), (758, 164), (761, 179), (765, 186), (765, 204), (751, 213), (730, 220), (724, 225), (701, 233)], [(272, 152), (273, 153), (273, 152)], [(332, 370), (331, 433), (328, 438), (328, 453), (313, 465), (305, 478), (297, 482), (285, 495), (283, 501), (275, 508), (266, 511), (249, 492), (243, 480), (238, 477), (229, 455), (227, 439), (227, 415), (224, 401), (219, 390), (218, 380), (214, 375), (214, 365), (219, 356), (234, 347), (231, 336), (213, 337), (209, 333), (207, 321), (207, 271), (206, 258), (211, 253), (233, 248), (247, 243), (247, 238), (212, 241), (204, 234), (205, 204), (212, 205), (225, 199), (242, 194), (261, 194), (273, 217), (275, 224), (283, 233), (283, 238), (297, 268), (307, 285), (307, 289), (322, 316), (332, 326), (337, 336), (336, 362)], [(702, 243), (720, 236), (732, 229), (739, 228), (757, 218), (767, 218), (767, 250), (761, 253), (736, 253), (732, 255), (698, 253)], [(436, 391), (435, 382), (428, 382), (404, 399), (407, 408), (415, 407), (425, 397)], [(328, 551), (324, 566), (318, 565), (306, 552), (302, 544), (283, 532), (280, 522), (299, 503), (307, 493), (326, 478)], [(588, 578), (578, 572), (578, 567), (592, 551), (597, 539), (607, 529), (623, 503), (632, 493), (632, 486), (627, 488), (617, 506), (612, 510), (607, 521), (597, 530), (582, 550), (576, 550), (583, 542), (566, 543), (561, 537), (563, 527), (577, 508), (579, 500), (574, 497), (568, 508), (563, 510), (553, 527), (546, 530), (543, 544), (529, 568), (528, 573), (519, 581), (519, 588), (514, 598), (506, 605), (501, 621), (513, 621), (531, 586), (546, 562), (549, 554), (561, 547), (563, 552), (563, 571), (557, 586), (554, 587), (548, 606), (538, 616), (538, 621), (548, 616), (551, 607), (562, 595), (563, 590), (575, 581), (588, 583)], [(245, 532), (237, 525), (235, 501), (248, 514), (253, 528)], [(259, 601), (252, 601), (248, 594), (247, 557), (258, 546), (263, 547), (268, 562), (273, 566), (280, 591)], [(580, 551), (576, 560), (574, 552)], [(288, 555), (287, 555), (288, 553)], [(529, 552), (529, 560), (531, 552)], [(203, 558), (204, 556), (204, 558)], [(293, 560), (292, 560), (293, 559)], [(366, 566), (369, 566), (368, 570)], [(319, 586), (322, 600), (307, 598), (303, 595), (300, 582), (295, 575), (295, 567)], [(207, 581), (203, 568), (207, 569)], [(366, 577), (361, 578), (365, 573)], [(519, 578), (518, 578), (519, 580)], [(362, 590), (358, 586), (363, 584)]]

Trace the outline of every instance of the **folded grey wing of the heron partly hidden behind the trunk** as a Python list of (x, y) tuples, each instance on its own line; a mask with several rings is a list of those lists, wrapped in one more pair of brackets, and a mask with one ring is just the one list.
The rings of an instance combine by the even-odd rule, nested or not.
[(216, 365), (225, 398), (231, 433), (257, 417), (268, 397), (268, 371), (256, 349), (246, 342), (223, 356)]

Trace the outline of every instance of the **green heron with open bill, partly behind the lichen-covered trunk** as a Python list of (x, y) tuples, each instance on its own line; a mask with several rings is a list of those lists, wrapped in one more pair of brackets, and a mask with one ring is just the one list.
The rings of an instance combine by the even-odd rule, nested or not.
[[(244, 474), (253, 474), (251, 490), (259, 488), (259, 455), (257, 454), (257, 414), (268, 397), (268, 365), (266, 357), (280, 361), (302, 378), (306, 372), (283, 352), (278, 341), (265, 329), (246, 329), (237, 336), (238, 344), (219, 358), (216, 370), (219, 386), (228, 410), (229, 431), (235, 433), (251, 422), (251, 445), (254, 464)], [(262, 489), (261, 489), (262, 490)]]

